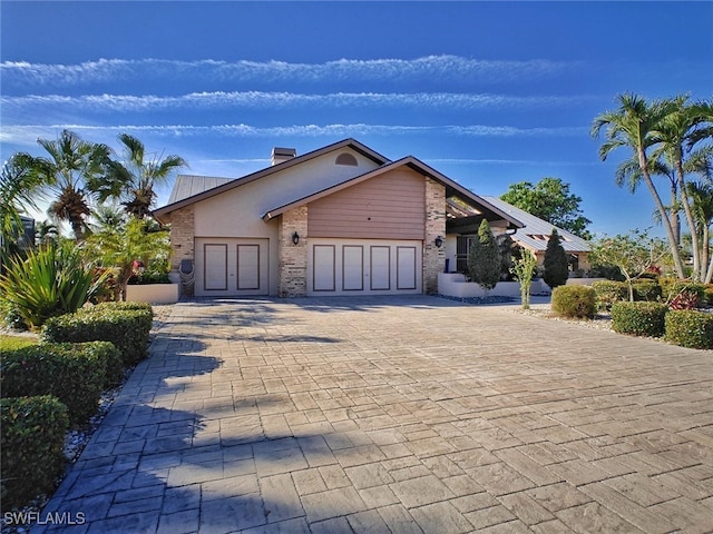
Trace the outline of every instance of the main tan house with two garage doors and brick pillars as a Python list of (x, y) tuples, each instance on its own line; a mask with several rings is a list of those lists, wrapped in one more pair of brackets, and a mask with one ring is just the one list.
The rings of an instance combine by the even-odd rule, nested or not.
[(303, 156), (274, 148), (272, 162), (236, 179), (179, 176), (154, 211), (170, 224), (172, 268), (192, 271), (186, 293), (436, 293), (482, 218), (500, 233), (524, 226), (417, 158), (354, 139)]

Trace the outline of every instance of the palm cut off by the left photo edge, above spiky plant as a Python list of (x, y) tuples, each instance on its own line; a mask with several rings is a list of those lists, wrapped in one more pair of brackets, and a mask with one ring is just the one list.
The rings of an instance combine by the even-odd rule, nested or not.
[(35, 164), (35, 158), (29, 154), (16, 152), (0, 171), (0, 243), (6, 256), (14, 249), (20, 238), (21, 215), (38, 209), (42, 178)]

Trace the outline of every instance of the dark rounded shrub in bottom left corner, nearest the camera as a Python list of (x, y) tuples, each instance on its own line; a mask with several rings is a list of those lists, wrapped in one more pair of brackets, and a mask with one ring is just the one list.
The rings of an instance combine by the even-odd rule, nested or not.
[(67, 406), (50, 395), (0, 399), (2, 508), (53, 488), (65, 467)]

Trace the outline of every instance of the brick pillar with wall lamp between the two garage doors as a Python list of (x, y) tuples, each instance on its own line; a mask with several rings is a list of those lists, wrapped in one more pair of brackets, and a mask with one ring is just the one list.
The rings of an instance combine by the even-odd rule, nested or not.
[[(292, 236), (300, 236), (294, 245)], [(304, 297), (307, 294), (307, 207), (282, 214), (280, 225), (280, 296)]]

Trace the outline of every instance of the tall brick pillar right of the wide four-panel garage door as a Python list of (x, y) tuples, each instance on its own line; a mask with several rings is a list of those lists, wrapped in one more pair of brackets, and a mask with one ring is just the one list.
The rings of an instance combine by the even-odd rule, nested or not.
[(446, 267), (443, 247), (436, 238), (446, 238), (446, 186), (426, 178), (426, 241), (423, 244), (423, 293), (438, 293), (438, 274)]

